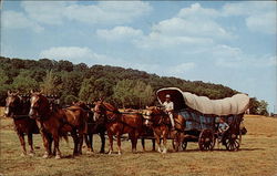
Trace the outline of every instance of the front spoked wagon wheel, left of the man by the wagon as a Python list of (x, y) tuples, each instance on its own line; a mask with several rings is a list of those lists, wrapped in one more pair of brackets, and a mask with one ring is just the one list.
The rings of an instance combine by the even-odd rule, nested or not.
[(201, 151), (213, 151), (215, 137), (212, 130), (203, 130), (199, 135), (198, 146)]

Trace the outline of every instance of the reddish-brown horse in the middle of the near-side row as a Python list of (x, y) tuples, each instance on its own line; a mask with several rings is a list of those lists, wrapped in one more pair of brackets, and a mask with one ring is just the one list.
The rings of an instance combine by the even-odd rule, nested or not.
[(113, 152), (113, 136), (116, 135), (119, 155), (121, 155), (121, 135), (129, 134), (132, 142), (132, 152), (136, 152), (137, 138), (142, 132), (143, 117), (138, 113), (121, 113), (106, 102), (94, 103), (94, 118), (104, 121), (110, 141), (110, 152)]

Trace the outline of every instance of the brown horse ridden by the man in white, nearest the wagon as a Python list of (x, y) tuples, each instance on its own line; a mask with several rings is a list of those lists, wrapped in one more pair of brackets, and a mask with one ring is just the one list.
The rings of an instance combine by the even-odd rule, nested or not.
[[(170, 133), (173, 133), (175, 135), (175, 138), (177, 142), (176, 148), (178, 148), (179, 143), (181, 143), (179, 132), (184, 132), (184, 127), (185, 127), (184, 125), (185, 120), (181, 115), (174, 114), (174, 121), (175, 121), (174, 132), (170, 131), (171, 121), (170, 121), (168, 114), (166, 114), (160, 107), (156, 107), (156, 106), (146, 107), (146, 110), (144, 110), (143, 112), (143, 117), (146, 120), (145, 125), (151, 126), (153, 128), (154, 136), (158, 145), (157, 151), (160, 153), (165, 154), (167, 152), (166, 141), (167, 141), (167, 136)], [(161, 146), (161, 138), (163, 138), (163, 148)]]

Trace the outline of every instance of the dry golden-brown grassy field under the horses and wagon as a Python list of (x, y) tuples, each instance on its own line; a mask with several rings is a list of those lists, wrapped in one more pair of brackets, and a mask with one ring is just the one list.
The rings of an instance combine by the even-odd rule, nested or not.
[[(277, 175), (277, 118), (245, 117), (247, 135), (238, 152), (227, 152), (224, 147), (214, 152), (199, 152), (196, 143), (188, 143), (186, 152), (166, 155), (156, 152), (131, 153), (130, 142), (123, 142), (123, 155), (83, 154), (72, 157), (72, 142), (61, 143), (62, 159), (43, 159), (40, 135), (34, 136), (35, 156), (21, 157), (19, 139), (11, 120), (0, 117), (0, 176), (2, 175)], [(100, 139), (94, 137), (95, 151)], [(151, 151), (151, 143), (146, 143)], [(107, 145), (106, 145), (107, 149)], [(85, 151), (85, 148), (84, 148)]]

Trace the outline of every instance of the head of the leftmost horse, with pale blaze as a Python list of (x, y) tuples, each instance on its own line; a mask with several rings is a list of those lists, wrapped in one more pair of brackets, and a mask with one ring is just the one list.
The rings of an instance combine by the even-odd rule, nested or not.
[(18, 106), (20, 104), (20, 97), (18, 96), (19, 91), (16, 93), (11, 93), (8, 91), (8, 97), (6, 99), (6, 110), (4, 116), (13, 116), (18, 111)]

